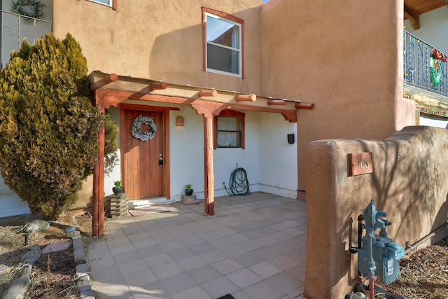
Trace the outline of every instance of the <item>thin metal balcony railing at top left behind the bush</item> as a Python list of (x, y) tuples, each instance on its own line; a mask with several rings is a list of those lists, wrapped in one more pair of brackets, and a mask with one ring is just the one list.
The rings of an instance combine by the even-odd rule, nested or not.
[(51, 32), (51, 21), (29, 18), (17, 13), (3, 11), (0, 9), (0, 67), (5, 67), (9, 61), (10, 53), (19, 50), (23, 39), (29, 43), (35, 43), (36, 39)]

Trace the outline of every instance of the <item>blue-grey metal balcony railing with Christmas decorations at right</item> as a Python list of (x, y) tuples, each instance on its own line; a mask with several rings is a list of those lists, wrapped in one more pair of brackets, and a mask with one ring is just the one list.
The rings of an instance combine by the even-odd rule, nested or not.
[(405, 85), (448, 95), (448, 61), (431, 57), (433, 50), (437, 49), (403, 30), (403, 50)]

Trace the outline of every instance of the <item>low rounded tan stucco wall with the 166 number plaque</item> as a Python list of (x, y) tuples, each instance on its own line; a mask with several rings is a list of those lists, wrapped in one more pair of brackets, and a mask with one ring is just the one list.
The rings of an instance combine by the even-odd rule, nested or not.
[[(348, 176), (347, 155), (362, 152), (372, 153), (373, 173)], [(448, 131), (436, 127), (405, 127), (384, 140), (311, 142), (305, 297), (342, 298), (353, 291), (357, 255), (347, 250), (357, 245), (357, 217), (370, 199), (392, 222), (388, 237), (403, 247), (447, 223), (447, 157)], [(447, 228), (430, 241), (444, 235)]]

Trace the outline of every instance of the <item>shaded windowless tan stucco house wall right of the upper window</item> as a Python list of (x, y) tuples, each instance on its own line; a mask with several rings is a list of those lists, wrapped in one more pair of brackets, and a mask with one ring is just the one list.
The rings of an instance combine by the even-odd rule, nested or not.
[(315, 104), (297, 113), (299, 188), (310, 141), (383, 139), (415, 124), (412, 103), (402, 103), (402, 7), (402, 0), (262, 6), (262, 94)]

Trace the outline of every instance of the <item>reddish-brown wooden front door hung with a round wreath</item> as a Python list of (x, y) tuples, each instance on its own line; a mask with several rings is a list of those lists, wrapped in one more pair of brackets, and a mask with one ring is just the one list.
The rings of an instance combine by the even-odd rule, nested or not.
[[(143, 141), (132, 135), (132, 123), (138, 116), (153, 119), (157, 131), (153, 139)], [(123, 155), (123, 186), (130, 200), (163, 195), (163, 166), (159, 165), (163, 153), (162, 112), (125, 109), (125, 151)], [(142, 124), (141, 133), (150, 132), (149, 126)], [(122, 141), (123, 144), (123, 141)]]

